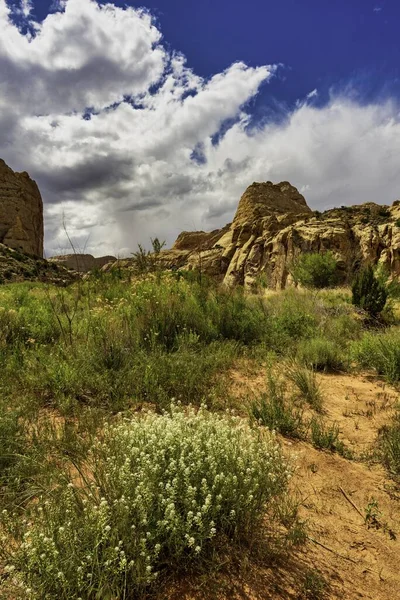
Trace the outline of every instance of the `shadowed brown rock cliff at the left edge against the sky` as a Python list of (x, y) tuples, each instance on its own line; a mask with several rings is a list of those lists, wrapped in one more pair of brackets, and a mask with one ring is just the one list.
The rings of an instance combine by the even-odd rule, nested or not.
[(0, 159), (0, 243), (43, 256), (43, 202), (28, 173), (15, 173)]

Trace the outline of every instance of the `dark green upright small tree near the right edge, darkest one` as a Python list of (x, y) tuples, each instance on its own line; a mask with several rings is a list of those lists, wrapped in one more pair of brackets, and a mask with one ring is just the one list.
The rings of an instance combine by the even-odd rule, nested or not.
[(352, 285), (355, 306), (365, 310), (370, 317), (377, 317), (385, 308), (388, 291), (385, 284), (375, 276), (371, 266), (362, 269)]

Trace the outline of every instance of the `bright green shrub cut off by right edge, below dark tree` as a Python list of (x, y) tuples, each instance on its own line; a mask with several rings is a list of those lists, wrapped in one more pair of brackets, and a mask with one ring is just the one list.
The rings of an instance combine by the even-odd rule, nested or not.
[(400, 381), (400, 329), (365, 333), (353, 344), (352, 354), (361, 366), (374, 369), (392, 383)]

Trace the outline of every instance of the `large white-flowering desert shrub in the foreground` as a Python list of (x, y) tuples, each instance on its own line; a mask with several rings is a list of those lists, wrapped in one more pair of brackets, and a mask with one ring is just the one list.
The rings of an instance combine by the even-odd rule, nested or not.
[(252, 535), (290, 471), (273, 436), (204, 409), (109, 426), (90, 457), (91, 482), (39, 498), (22, 543), (3, 548), (33, 599), (136, 598), (221, 536)]

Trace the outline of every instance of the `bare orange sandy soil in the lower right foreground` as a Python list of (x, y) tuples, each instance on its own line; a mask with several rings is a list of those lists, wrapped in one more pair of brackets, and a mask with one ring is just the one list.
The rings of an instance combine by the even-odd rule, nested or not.
[[(320, 375), (319, 381), (324, 417), (339, 424), (341, 439), (355, 459), (282, 439), (287, 452), (296, 456), (292, 490), (307, 523), (307, 542), (273, 567), (255, 560), (237, 565), (235, 573), (222, 569), (215, 584), (183, 580), (168, 594), (171, 600), (400, 599), (400, 489), (371, 460), (378, 431), (389, 421), (399, 395), (367, 374)], [(243, 409), (264, 390), (265, 370), (257, 373), (245, 366), (232, 372), (231, 392)], [(324, 591), (317, 584), (307, 591), (307, 576), (318, 579), (318, 574), (327, 584)]]

